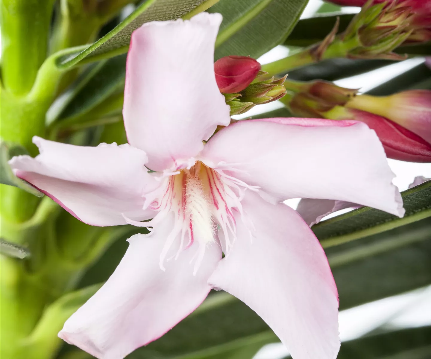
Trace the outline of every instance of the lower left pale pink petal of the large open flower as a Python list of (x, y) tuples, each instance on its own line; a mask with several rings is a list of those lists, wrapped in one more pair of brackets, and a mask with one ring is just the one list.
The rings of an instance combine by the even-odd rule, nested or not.
[[(222, 251), (217, 244), (207, 247), (194, 276), (190, 262), (198, 245), (193, 244), (177, 260), (168, 261), (163, 272), (159, 256), (172, 226), (173, 215), (150, 237), (131, 237), (115, 272), (66, 321), (59, 337), (96, 358), (122, 359), (158, 339), (193, 312), (211, 289), (206, 282)], [(175, 254), (175, 249), (170, 254)]]

